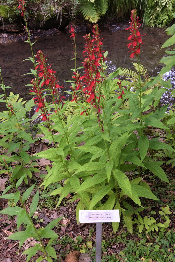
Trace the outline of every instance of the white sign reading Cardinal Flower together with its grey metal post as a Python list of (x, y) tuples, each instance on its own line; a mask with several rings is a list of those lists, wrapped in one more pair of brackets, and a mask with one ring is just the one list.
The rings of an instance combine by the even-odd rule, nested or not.
[(96, 223), (95, 259), (101, 262), (102, 223), (120, 222), (118, 209), (111, 210), (79, 210), (80, 223)]

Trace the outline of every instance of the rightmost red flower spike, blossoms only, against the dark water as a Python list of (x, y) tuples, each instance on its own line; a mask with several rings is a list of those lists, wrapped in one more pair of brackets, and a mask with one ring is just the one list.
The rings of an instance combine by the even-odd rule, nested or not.
[[(127, 47), (130, 49), (128, 52), (131, 52), (130, 57), (133, 58), (134, 55), (136, 57), (138, 54), (140, 54), (140, 47), (143, 45), (142, 40), (141, 40), (141, 33), (139, 32), (139, 27), (141, 24), (139, 23), (139, 17), (136, 14), (136, 10), (131, 11), (131, 22), (129, 22), (130, 26), (125, 29), (131, 32), (131, 35), (127, 38), (127, 40), (131, 40), (129, 44), (127, 44)], [(145, 36), (145, 35), (143, 35)]]

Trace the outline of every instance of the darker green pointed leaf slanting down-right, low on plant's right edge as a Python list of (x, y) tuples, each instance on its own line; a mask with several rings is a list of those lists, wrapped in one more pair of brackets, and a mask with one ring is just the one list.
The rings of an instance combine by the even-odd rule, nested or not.
[(163, 171), (163, 169), (159, 166), (156, 161), (152, 162), (143, 162), (147, 169), (149, 169), (155, 176), (158, 176), (158, 178), (162, 179), (163, 181), (169, 183), (169, 180), (167, 178), (167, 175)]

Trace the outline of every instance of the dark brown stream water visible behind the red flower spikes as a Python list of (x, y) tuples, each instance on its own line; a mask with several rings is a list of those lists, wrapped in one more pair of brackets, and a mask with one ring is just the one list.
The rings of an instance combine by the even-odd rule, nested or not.
[[(137, 62), (136, 59), (129, 58), (127, 48), (127, 37), (129, 31), (125, 31), (128, 23), (118, 23), (101, 27), (101, 37), (104, 38), (103, 50), (108, 50), (107, 63), (108, 72), (113, 72), (118, 67), (133, 68), (132, 62)], [(165, 29), (150, 28), (148, 26), (141, 29), (143, 41), (145, 42), (141, 48), (140, 61), (147, 68), (150, 76), (156, 76), (160, 71), (162, 65), (159, 64), (162, 56), (165, 55), (164, 49), (160, 49), (162, 44), (168, 38)], [(83, 36), (90, 33), (90, 29), (76, 33), (77, 47), (77, 67), (81, 66), (82, 51), (84, 46)], [(48, 63), (52, 63), (52, 68), (57, 72), (57, 77), (60, 84), (69, 89), (69, 83), (66, 80), (71, 80), (72, 71), (74, 68), (74, 61), (70, 61), (72, 57), (72, 39), (69, 37), (68, 31), (61, 32), (57, 36), (38, 38), (37, 42), (33, 45), (34, 53), (39, 49), (47, 55)], [(166, 50), (166, 49), (165, 49)], [(20, 97), (25, 100), (31, 99), (29, 95), (29, 87), (25, 86), (30, 83), (31, 76), (21, 76), (30, 72), (32, 64), (29, 61), (22, 60), (31, 56), (30, 46), (24, 42), (13, 42), (9, 44), (0, 44), (0, 67), (3, 81), (6, 86), (12, 86), (14, 93), (19, 93)], [(167, 73), (167, 78), (174, 78), (174, 72), (171, 70)], [(1, 93), (3, 91), (1, 90)], [(167, 101), (168, 102), (168, 101)], [(0, 108), (2, 110), (2, 107)]]

